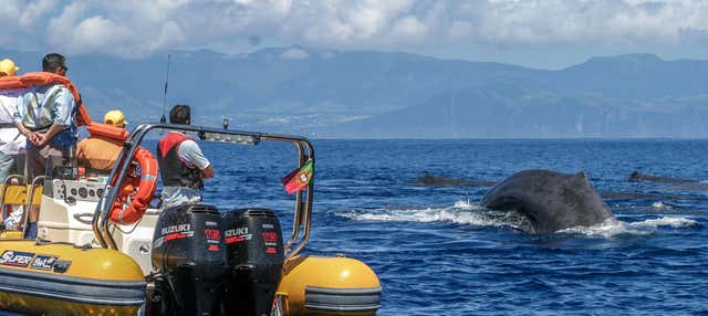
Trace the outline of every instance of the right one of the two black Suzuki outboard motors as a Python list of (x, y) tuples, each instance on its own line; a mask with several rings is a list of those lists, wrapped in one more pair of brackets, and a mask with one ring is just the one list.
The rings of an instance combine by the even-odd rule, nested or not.
[(229, 265), (227, 315), (270, 315), (283, 268), (278, 217), (267, 209), (222, 213)]

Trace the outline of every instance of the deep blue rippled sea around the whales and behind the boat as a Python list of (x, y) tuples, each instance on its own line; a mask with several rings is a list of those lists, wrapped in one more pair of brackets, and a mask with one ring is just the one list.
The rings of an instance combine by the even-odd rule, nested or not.
[[(643, 173), (708, 180), (708, 140), (314, 140), (313, 228), (304, 254), (343, 253), (378, 274), (378, 315), (707, 315), (706, 191), (628, 182)], [(278, 211), (289, 144), (205, 144), (216, 179), (206, 202)], [(500, 181), (524, 169), (586, 172), (617, 221), (532, 234), (485, 210), (490, 187), (425, 187), (424, 172)], [(686, 199), (684, 199), (686, 197)]]

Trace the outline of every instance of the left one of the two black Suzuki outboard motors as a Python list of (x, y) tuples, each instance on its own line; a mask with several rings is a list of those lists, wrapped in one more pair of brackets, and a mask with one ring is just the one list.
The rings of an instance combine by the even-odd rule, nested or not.
[(159, 315), (220, 315), (226, 250), (221, 214), (206, 204), (163, 211), (153, 235), (153, 266), (159, 270), (156, 289)]

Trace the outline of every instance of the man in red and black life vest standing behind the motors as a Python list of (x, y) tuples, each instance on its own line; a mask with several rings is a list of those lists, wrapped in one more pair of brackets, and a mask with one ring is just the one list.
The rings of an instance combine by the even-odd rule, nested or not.
[[(189, 125), (189, 106), (173, 107), (169, 123)], [(165, 209), (201, 201), (204, 179), (214, 177), (214, 168), (194, 138), (180, 131), (168, 133), (157, 144), (157, 164), (163, 179)]]

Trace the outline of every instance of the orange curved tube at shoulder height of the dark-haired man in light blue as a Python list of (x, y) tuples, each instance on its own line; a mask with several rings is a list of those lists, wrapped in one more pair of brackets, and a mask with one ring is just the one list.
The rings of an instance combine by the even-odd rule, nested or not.
[(33, 85), (62, 84), (74, 96), (76, 102), (76, 125), (84, 126), (91, 124), (91, 116), (84, 105), (76, 86), (65, 76), (48, 72), (27, 73), (21, 76), (0, 77), (0, 88), (28, 88)]

